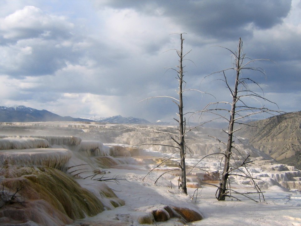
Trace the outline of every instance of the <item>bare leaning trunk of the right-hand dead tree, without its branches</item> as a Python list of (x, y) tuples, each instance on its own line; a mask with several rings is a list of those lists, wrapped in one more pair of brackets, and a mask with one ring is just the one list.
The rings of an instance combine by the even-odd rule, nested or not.
[(240, 49), (241, 49), (241, 39), (239, 39), (238, 43), (238, 56), (236, 57), (236, 79), (235, 79), (235, 88), (233, 90), (232, 96), (232, 105), (231, 105), (231, 113), (230, 113), (230, 120), (229, 120), (229, 129), (228, 129), (228, 142), (225, 151), (225, 159), (224, 159), (224, 169), (221, 177), (221, 181), (219, 184), (219, 195), (217, 197), (218, 200), (225, 200), (226, 197), (226, 187), (227, 187), (227, 180), (228, 180), (228, 171), (229, 171), (229, 162), (230, 162), (230, 155), (232, 149), (232, 139), (233, 139), (233, 127), (234, 127), (234, 117), (235, 117), (235, 106), (239, 97), (237, 97), (237, 87), (239, 83), (239, 75), (240, 75)]

